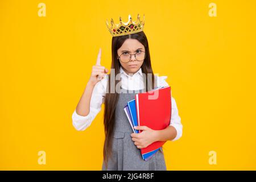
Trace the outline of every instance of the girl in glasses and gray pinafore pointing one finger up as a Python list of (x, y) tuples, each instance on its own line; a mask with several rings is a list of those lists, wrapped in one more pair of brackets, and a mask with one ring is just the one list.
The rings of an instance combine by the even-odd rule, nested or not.
[[(136, 26), (135, 22), (131, 22), (131, 18), (130, 22), (123, 23), (123, 26), (130, 28), (128, 32), (120, 35), (114, 35), (112, 32), (112, 71), (109, 75), (107, 75), (108, 69), (100, 63), (100, 49), (84, 93), (73, 112), (73, 126), (76, 130), (85, 130), (100, 112), (101, 105), (104, 103), (105, 143), (102, 170), (166, 170), (162, 147), (147, 161), (142, 159), (140, 148), (147, 147), (156, 141), (174, 141), (181, 137), (183, 126), (175, 99), (171, 97), (170, 126), (164, 130), (138, 126), (135, 129), (142, 132), (135, 134), (123, 110), (123, 106), (127, 101), (133, 100), (136, 93), (147, 92), (158, 86), (168, 86), (165, 81), (167, 76), (154, 76), (143, 27), (135, 32), (131, 24), (132, 28)], [(150, 73), (151, 77), (148, 78), (147, 74)], [(146, 78), (143, 77), (145, 74)], [(148, 84), (153, 87), (148, 89)], [(113, 85), (116, 92), (111, 89)]]

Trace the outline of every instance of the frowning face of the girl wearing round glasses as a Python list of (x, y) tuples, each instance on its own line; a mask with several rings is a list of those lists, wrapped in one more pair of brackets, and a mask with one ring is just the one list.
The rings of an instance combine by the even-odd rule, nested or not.
[[(145, 48), (143, 44), (136, 39), (126, 39), (125, 42), (123, 42), (122, 46), (117, 50), (117, 55), (122, 55), (119, 58), (119, 62), (121, 63), (126, 73), (136, 73), (139, 70), (139, 68), (141, 68), (141, 65), (143, 64), (144, 61), (144, 56), (143, 59), (141, 59), (141, 57), (145, 54), (144, 52)], [(132, 55), (130, 61), (127, 61), (127, 63), (123, 63), (126, 62), (127, 57), (130, 57), (129, 53)], [(136, 57), (140, 61), (135, 59), (135, 53), (137, 53)]]

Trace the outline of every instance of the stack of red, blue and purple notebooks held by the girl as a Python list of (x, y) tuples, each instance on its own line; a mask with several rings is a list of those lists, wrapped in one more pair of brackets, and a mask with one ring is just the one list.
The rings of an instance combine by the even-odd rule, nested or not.
[[(171, 87), (162, 86), (149, 92), (135, 94), (134, 100), (123, 107), (134, 133), (134, 126), (147, 126), (152, 130), (163, 130), (171, 121)], [(150, 159), (163, 146), (165, 141), (157, 141), (141, 148), (142, 158)]]

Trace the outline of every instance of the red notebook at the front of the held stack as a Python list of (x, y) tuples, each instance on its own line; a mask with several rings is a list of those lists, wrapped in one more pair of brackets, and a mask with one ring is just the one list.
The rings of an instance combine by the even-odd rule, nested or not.
[[(163, 130), (170, 125), (172, 107), (170, 86), (138, 93), (135, 96), (135, 101), (139, 126), (147, 126), (153, 130)], [(146, 148), (141, 149), (141, 154), (144, 155), (154, 151), (162, 147), (164, 143), (164, 141), (151, 143)]]

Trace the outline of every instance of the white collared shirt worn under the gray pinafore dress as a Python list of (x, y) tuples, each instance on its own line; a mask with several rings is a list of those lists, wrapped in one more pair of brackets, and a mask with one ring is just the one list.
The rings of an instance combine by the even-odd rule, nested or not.
[[(121, 74), (121, 86), (123, 89), (126, 90), (140, 90), (144, 89), (143, 84), (143, 75), (142, 69), (140, 68), (136, 73), (133, 75), (127, 75), (127, 73), (120, 67), (120, 74)], [(168, 86), (168, 83), (165, 81), (167, 76), (157, 76), (157, 86)], [(101, 81), (97, 82), (97, 84), (93, 88), (92, 97), (90, 100), (90, 111), (89, 114), (86, 116), (82, 116), (76, 113), (76, 110), (72, 114), (72, 122), (73, 126), (76, 130), (84, 131), (87, 127), (90, 126), (93, 119), (101, 110), (101, 105), (105, 101), (106, 95), (106, 87), (108, 85), (108, 75), (106, 75)], [(173, 126), (176, 131), (177, 135), (172, 140), (177, 140), (182, 136), (183, 125), (181, 124), (181, 119), (177, 110), (176, 101), (173, 97), (171, 97), (172, 102), (172, 115), (171, 115), (171, 122), (170, 126)]]

